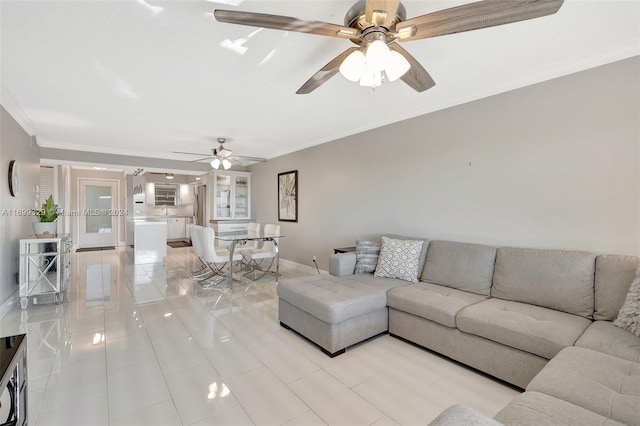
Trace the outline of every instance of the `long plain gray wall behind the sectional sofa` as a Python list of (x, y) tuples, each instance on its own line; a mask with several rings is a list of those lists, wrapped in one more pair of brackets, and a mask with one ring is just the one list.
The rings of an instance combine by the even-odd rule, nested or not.
[(306, 265), (383, 233), (640, 255), (639, 75), (635, 57), (254, 165), (254, 217), (277, 221), (298, 170), (281, 255)]

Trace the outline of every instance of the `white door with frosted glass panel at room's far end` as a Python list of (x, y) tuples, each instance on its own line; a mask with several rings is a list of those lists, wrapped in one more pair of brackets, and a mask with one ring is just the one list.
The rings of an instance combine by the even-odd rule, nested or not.
[(78, 224), (80, 247), (118, 244), (119, 184), (115, 180), (80, 179)]

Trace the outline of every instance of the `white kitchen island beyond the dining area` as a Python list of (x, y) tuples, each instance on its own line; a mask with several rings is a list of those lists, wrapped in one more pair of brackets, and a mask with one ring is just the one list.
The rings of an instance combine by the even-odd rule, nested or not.
[(133, 262), (162, 262), (167, 255), (167, 223), (157, 219), (133, 220)]

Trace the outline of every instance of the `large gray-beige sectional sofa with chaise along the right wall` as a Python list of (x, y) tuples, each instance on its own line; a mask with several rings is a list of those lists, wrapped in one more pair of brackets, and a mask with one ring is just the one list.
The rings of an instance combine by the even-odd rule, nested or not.
[(417, 283), (330, 263), (278, 286), (281, 324), (328, 354), (388, 330), (526, 389), (499, 422), (640, 425), (640, 338), (612, 323), (638, 258), (425, 240)]

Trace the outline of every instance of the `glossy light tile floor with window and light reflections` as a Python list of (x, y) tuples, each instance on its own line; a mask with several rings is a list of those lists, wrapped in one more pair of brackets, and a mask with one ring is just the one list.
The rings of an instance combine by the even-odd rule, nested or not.
[(518, 394), (390, 336), (331, 359), (279, 326), (273, 276), (203, 289), (191, 248), (167, 250), (75, 253), (67, 302), (2, 319), (28, 334), (30, 425), (412, 425)]

